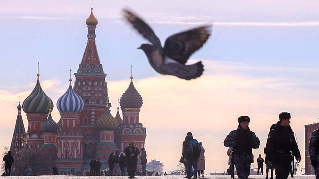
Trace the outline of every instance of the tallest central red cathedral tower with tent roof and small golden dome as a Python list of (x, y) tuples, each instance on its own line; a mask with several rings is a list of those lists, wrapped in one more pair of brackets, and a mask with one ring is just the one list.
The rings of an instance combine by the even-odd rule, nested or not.
[[(103, 72), (99, 54), (95, 43), (95, 28), (98, 20), (91, 14), (86, 19), (88, 28), (87, 44), (79, 65), (78, 72), (75, 73), (74, 91), (83, 99), (84, 108), (80, 113), (79, 127), (85, 137), (85, 149), (91, 151), (98, 144), (99, 131), (96, 127), (96, 120), (106, 110), (106, 93), (108, 91), (105, 81), (106, 74)], [(110, 105), (110, 104), (109, 104)], [(91, 151), (94, 153), (94, 151)], [(94, 155), (94, 154), (89, 154)]]

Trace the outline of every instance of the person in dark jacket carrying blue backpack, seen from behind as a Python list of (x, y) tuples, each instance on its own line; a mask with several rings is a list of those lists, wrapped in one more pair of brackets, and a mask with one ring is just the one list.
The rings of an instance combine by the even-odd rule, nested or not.
[(197, 162), (200, 156), (200, 147), (192, 132), (187, 132), (182, 144), (182, 155), (187, 162), (187, 178), (191, 178), (191, 168), (193, 168), (194, 179), (197, 178)]

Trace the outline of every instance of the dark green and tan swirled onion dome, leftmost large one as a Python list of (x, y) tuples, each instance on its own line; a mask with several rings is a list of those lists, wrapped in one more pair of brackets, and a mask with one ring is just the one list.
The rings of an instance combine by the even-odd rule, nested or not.
[[(53, 109), (53, 102), (41, 88), (39, 80), (40, 74), (38, 73), (37, 76), (37, 83), (31, 94), (23, 101), (22, 108), (23, 111), (27, 114), (48, 114), (49, 108)], [(49, 106), (49, 103), (51, 103), (51, 106)]]

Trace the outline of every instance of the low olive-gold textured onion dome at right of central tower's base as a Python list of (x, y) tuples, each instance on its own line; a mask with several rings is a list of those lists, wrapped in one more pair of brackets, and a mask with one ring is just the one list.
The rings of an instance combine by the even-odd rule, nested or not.
[(108, 94), (107, 94), (107, 101), (106, 101), (106, 110), (104, 113), (98, 117), (96, 121), (96, 125), (100, 131), (114, 131), (119, 126), (119, 122), (116, 118), (112, 116), (108, 106)]

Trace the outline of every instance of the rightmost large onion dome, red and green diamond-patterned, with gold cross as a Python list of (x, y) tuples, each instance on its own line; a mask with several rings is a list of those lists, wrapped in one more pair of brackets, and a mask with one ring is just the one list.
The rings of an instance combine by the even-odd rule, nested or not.
[(131, 83), (129, 88), (126, 89), (120, 99), (121, 108), (141, 108), (143, 99), (133, 84), (133, 76), (131, 76)]

